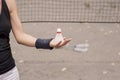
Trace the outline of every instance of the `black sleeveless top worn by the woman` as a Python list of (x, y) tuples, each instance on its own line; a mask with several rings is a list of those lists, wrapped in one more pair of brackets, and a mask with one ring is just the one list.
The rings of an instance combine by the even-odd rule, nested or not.
[(2, 1), (2, 10), (0, 14), (0, 74), (6, 73), (15, 67), (13, 59), (9, 33), (11, 31), (10, 13), (5, 0)]

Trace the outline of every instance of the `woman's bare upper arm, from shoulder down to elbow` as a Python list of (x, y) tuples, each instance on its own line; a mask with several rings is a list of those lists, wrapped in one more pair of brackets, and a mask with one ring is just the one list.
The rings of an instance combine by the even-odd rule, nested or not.
[(14, 36), (17, 38), (17, 36), (20, 36), (20, 34), (23, 33), (22, 24), (18, 16), (17, 2), (16, 0), (6, 0), (6, 2), (10, 12), (12, 31)]

